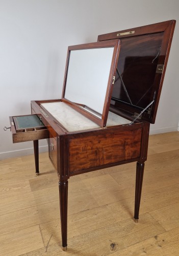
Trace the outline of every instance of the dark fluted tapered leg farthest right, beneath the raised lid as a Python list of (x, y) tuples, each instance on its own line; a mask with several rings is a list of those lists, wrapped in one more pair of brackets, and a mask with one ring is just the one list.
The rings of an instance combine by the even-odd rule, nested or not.
[(136, 220), (136, 222), (138, 222), (138, 219), (139, 219), (139, 208), (140, 208), (140, 199), (141, 199), (141, 192), (142, 192), (143, 173), (144, 173), (144, 163), (137, 162), (135, 210), (134, 210), (134, 219)]

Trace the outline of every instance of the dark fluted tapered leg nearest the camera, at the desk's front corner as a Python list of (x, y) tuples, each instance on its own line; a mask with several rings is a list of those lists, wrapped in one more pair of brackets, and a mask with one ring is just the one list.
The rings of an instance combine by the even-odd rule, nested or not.
[(59, 181), (60, 195), (60, 218), (62, 230), (62, 246), (67, 247), (67, 204), (68, 204), (68, 181)]

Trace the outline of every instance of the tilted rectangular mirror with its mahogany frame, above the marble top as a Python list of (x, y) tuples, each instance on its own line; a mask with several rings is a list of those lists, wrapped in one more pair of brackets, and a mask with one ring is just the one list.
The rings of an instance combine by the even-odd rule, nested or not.
[(119, 40), (68, 47), (62, 101), (105, 126)]

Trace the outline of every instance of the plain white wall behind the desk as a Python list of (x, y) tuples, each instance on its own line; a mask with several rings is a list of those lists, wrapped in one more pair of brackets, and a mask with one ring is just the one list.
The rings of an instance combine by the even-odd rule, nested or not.
[(3, 127), (29, 114), (31, 100), (61, 97), (67, 46), (169, 19), (176, 28), (151, 133), (178, 129), (178, 0), (0, 0), (0, 159), (32, 153), (32, 142), (13, 144)]

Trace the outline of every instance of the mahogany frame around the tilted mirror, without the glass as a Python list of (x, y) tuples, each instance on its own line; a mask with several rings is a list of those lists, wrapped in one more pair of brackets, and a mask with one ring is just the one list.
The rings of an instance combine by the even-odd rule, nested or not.
[[(82, 109), (79, 105), (77, 105), (74, 102), (65, 98), (65, 89), (66, 89), (66, 82), (67, 82), (67, 75), (68, 75), (68, 65), (69, 65), (69, 61), (70, 61), (70, 52), (71, 51), (85, 50), (85, 49), (97, 49), (97, 48), (109, 48), (109, 47), (113, 47), (114, 50), (113, 50), (110, 74), (109, 74), (109, 79), (108, 79), (108, 84), (107, 84), (105, 102), (104, 102), (104, 106), (103, 106), (103, 113), (102, 113), (101, 119), (100, 119), (99, 117), (93, 115), (92, 113), (88, 112), (85, 109)], [(83, 44), (83, 45), (76, 45), (76, 46), (69, 46), (68, 47), (66, 67), (65, 67), (65, 76), (64, 76), (64, 83), (63, 83), (63, 91), (62, 91), (62, 99), (61, 100), (65, 103), (69, 104), (73, 109), (80, 112), (81, 114), (83, 114), (87, 118), (91, 119), (93, 122), (97, 123), (101, 127), (106, 126), (107, 119), (108, 119), (108, 112), (109, 112), (109, 107), (110, 107), (110, 102), (111, 102), (112, 88), (113, 88), (113, 84), (114, 84), (113, 77), (115, 76), (115, 73), (116, 73), (119, 51), (120, 51), (120, 40), (119, 39), (114, 39), (114, 40), (109, 40), (109, 41), (102, 41), (102, 42), (92, 42), (92, 43), (89, 43), (89, 44)], [(79, 79), (80, 79), (80, 77), (79, 77)]]

